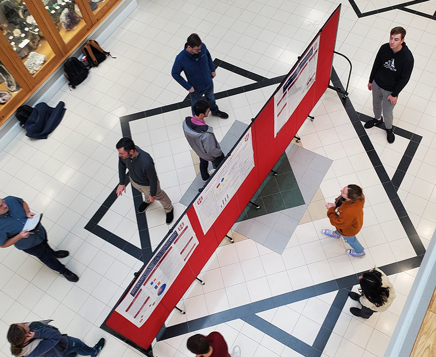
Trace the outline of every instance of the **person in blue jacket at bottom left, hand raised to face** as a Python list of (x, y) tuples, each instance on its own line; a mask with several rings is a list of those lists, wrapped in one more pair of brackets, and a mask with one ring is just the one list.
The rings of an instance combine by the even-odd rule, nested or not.
[(16, 357), (97, 357), (105, 347), (106, 340), (101, 338), (89, 347), (81, 340), (61, 334), (49, 325), (53, 320), (14, 323), (7, 331), (10, 352)]

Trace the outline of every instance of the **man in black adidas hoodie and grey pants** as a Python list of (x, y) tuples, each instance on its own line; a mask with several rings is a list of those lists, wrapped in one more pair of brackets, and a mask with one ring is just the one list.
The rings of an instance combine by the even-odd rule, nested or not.
[(390, 30), (389, 43), (382, 45), (371, 71), (368, 89), (373, 92), (374, 119), (365, 123), (365, 128), (384, 124), (387, 142), (393, 143), (395, 135), (392, 130), (393, 107), (398, 94), (406, 86), (413, 69), (413, 56), (404, 42), (406, 30), (394, 27)]

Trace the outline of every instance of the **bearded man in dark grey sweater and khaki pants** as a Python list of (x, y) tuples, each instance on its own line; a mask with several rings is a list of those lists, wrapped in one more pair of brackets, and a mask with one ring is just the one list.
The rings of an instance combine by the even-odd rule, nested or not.
[(161, 189), (153, 158), (128, 137), (119, 140), (116, 149), (119, 153), (119, 185), (116, 189), (116, 196), (126, 192), (126, 169), (129, 169), (132, 186), (145, 196), (145, 201), (139, 206), (138, 213), (144, 213), (152, 202), (158, 200), (165, 210), (166, 224), (170, 224), (174, 219), (174, 207), (168, 195)]

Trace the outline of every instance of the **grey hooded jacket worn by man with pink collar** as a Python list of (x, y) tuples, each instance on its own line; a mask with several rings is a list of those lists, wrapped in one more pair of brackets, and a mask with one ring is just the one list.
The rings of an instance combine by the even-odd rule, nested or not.
[(212, 126), (196, 125), (191, 117), (186, 117), (183, 121), (183, 132), (192, 150), (203, 160), (212, 161), (222, 155)]

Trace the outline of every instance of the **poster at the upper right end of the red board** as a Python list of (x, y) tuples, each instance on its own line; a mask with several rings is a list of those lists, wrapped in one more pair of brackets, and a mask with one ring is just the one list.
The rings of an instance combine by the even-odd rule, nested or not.
[(295, 70), (274, 96), (274, 137), (292, 116), (295, 109), (315, 83), (320, 36), (314, 41)]

